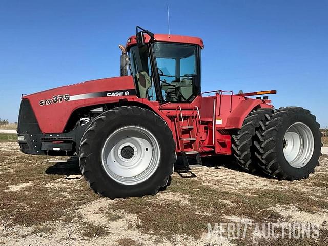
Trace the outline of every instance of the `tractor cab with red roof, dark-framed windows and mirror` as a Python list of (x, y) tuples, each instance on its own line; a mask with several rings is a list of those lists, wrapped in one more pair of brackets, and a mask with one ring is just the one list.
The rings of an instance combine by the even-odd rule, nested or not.
[(190, 103), (200, 95), (202, 48), (200, 38), (152, 34), (137, 27), (136, 36), (128, 39), (126, 50), (140, 98), (160, 103)]

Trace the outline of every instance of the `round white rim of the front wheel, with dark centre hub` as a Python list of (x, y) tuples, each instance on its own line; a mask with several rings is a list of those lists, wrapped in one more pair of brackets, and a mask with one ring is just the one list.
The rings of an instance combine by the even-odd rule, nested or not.
[(136, 185), (150, 178), (159, 165), (159, 157), (157, 139), (139, 126), (115, 130), (101, 150), (105, 171), (116, 182), (124, 185)]

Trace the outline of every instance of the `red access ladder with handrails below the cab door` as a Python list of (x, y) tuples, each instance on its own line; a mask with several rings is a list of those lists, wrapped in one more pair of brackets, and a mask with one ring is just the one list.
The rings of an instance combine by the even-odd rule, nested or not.
[[(197, 106), (192, 110), (191, 115), (182, 114), (182, 109), (180, 106), (176, 109), (177, 117), (175, 118), (176, 131), (178, 135), (179, 147), (181, 149), (181, 156), (184, 164), (184, 169), (186, 171), (190, 170), (188, 156), (196, 158), (195, 166), (202, 166), (199, 145), (197, 140), (197, 135), (199, 134), (200, 127), (200, 114)], [(181, 173), (181, 172), (180, 172)], [(180, 174), (179, 173), (179, 174)], [(181, 176), (181, 175), (180, 175)], [(196, 175), (192, 175), (195, 177)]]

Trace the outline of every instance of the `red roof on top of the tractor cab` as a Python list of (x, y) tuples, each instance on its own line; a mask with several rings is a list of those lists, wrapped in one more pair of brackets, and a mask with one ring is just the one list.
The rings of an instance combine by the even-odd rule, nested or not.
[[(204, 48), (203, 40), (199, 37), (189, 37), (181, 35), (168, 35), (168, 34), (154, 34), (155, 41), (159, 42), (173, 42), (173, 43), (184, 43), (184, 44), (193, 44), (199, 45), (202, 49)], [(150, 36), (145, 33), (145, 43), (148, 43)], [(127, 40), (126, 49), (129, 49), (131, 46), (137, 44), (136, 36), (131, 36)]]

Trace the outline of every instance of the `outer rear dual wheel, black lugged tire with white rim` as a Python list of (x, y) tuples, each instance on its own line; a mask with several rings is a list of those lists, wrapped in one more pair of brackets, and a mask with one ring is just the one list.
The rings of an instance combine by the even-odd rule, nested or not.
[(264, 172), (290, 181), (314, 173), (321, 155), (320, 125), (309, 110), (280, 108), (257, 131), (256, 156)]

